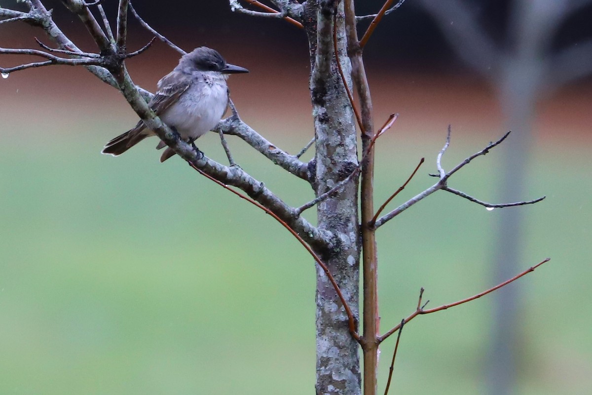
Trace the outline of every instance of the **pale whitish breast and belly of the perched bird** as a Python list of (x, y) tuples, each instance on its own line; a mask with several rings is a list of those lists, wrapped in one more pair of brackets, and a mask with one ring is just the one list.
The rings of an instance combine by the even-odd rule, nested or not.
[(228, 93), (226, 76), (201, 72), (194, 83), (162, 115), (183, 139), (197, 139), (218, 124), (226, 112)]

